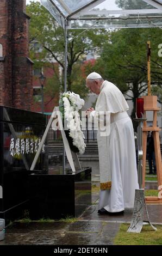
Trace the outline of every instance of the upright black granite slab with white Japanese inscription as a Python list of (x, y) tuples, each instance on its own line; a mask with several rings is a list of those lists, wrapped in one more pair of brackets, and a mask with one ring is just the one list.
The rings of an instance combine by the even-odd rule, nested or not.
[[(45, 115), (0, 106), (0, 218), (21, 218), (29, 208), (29, 169), (45, 129)], [(47, 172), (47, 160), (43, 147), (35, 169)]]

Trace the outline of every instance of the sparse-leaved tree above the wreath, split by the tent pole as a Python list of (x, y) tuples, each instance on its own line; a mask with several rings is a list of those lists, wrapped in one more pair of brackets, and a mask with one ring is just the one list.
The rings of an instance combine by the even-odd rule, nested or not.
[[(35, 59), (36, 66), (42, 66), (43, 62), (59, 63), (64, 72), (64, 31), (58, 26), (51, 14), (40, 5), (40, 3), (32, 2), (27, 5), (27, 14), (31, 17), (30, 21), (30, 42), (38, 41), (43, 47), (43, 51), (38, 55), (31, 48), (32, 59)], [(89, 52), (97, 52), (101, 49), (103, 42), (108, 39), (108, 34), (104, 29), (89, 30), (82, 35), (80, 29), (68, 32), (68, 56), (67, 56), (67, 90), (80, 92), (81, 96), (88, 93), (85, 82), (80, 80), (80, 66), (83, 59)], [(39, 61), (38, 61), (39, 60)], [(42, 61), (43, 60), (43, 61)], [(63, 88), (63, 76), (55, 72), (53, 83), (58, 83)]]

